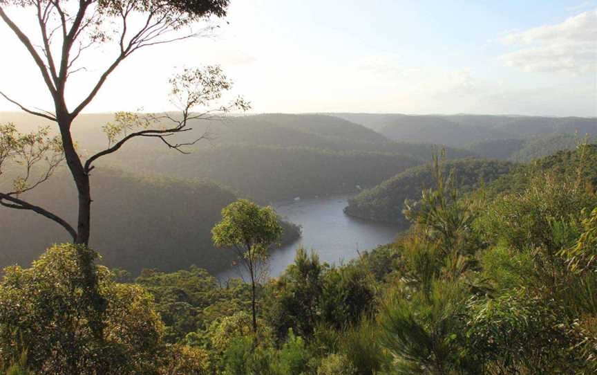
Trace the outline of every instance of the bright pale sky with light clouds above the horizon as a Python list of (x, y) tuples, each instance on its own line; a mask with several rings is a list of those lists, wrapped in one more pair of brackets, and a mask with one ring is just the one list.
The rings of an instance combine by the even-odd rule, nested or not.
[[(25, 11), (12, 15), (34, 30)], [(597, 0), (231, 0), (218, 26), (132, 55), (86, 111), (172, 109), (173, 72), (220, 64), (253, 113), (597, 116)], [(0, 41), (0, 91), (51, 109), (1, 23)], [(88, 50), (71, 107), (114, 48)], [(0, 111), (15, 109), (0, 100)]]

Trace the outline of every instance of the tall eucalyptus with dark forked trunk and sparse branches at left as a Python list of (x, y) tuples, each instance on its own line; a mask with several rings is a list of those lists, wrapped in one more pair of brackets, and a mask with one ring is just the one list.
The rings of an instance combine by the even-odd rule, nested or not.
[[(9, 184), (12, 186), (0, 191), (0, 204), (43, 215), (68, 231), (73, 242), (82, 245), (77, 246), (78, 249), (86, 248), (91, 235), (90, 176), (99, 158), (117, 152), (133, 138), (158, 138), (167, 147), (184, 152), (185, 146), (205, 138), (204, 134), (182, 143), (171, 141), (173, 135), (191, 130), (189, 122), (213, 116), (214, 112), (247, 109), (248, 104), (242, 99), (208, 109), (215, 105), (214, 101), (221, 100), (222, 93), (231, 89), (231, 82), (221, 69), (208, 66), (205, 69), (187, 69), (172, 78), (172, 100), (180, 109), (180, 115), (120, 113), (113, 124), (104, 127), (108, 136), (106, 148), (86, 159), (77, 152), (72, 134), (75, 118), (96, 98), (108, 77), (124, 60), (145, 48), (202, 35), (210, 29), (205, 26), (205, 21), (225, 17), (228, 6), (229, 0), (0, 0), (0, 19), (35, 62), (37, 74), (44, 82), (53, 108), (37, 109), (13, 98), (1, 87), (0, 95), (27, 113), (55, 122), (59, 134), (55, 139), (43, 129), (37, 133), (20, 134), (12, 125), (0, 130), (0, 136), (6, 138), (0, 143), (0, 167), (2, 164), (4, 167), (10, 165), (12, 171), (12, 167), (25, 165), (25, 172), (12, 172), (12, 184)], [(30, 25), (26, 21), (17, 21), (21, 17), (16, 17), (16, 13), (28, 14), (37, 31), (28, 30)], [(108, 51), (113, 51), (110, 62), (99, 71), (88, 92), (77, 100), (68, 95), (67, 100), (73, 74), (86, 69), (82, 65), (84, 57), (100, 46), (106, 55), (109, 55)], [(77, 188), (76, 225), (21, 196), (46, 181), (56, 169), (55, 162), (61, 158), (66, 161)], [(40, 169), (41, 176), (32, 176), (31, 172), (39, 172)], [(93, 259), (88, 251), (79, 251), (86, 293), (97, 300)], [(101, 307), (102, 301), (95, 302)]]

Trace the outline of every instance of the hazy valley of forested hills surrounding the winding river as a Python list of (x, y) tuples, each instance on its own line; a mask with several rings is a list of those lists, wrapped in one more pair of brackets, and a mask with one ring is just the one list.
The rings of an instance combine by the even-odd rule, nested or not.
[[(419, 139), (408, 136), (386, 138), (381, 130), (395, 126), (392, 124), (397, 118), (406, 121), (401, 127), (410, 126), (417, 134), (433, 132), (439, 138), (426, 139), (445, 139), (448, 145), (417, 143)], [(34, 119), (0, 113), (0, 122), (17, 122), (23, 131), (35, 129), (39, 121)], [(111, 116), (83, 115), (78, 121), (74, 129), (82, 140), (82, 150), (91, 154), (104, 147), (101, 126), (111, 121)], [(448, 121), (451, 127), (444, 128)], [(282, 248), (272, 249), (272, 275), (292, 262), (299, 244), (316, 248), (325, 262), (338, 264), (357, 256), (357, 250), (391, 241), (401, 228), (408, 227), (401, 213), (404, 200), (417, 199), (421, 190), (432, 186), (428, 163), (442, 147), (447, 158), (454, 160), (448, 162), (446, 171), (454, 170), (457, 184), (471, 190), (481, 182), (491, 183), (515, 166), (495, 159), (526, 162), (574, 147), (571, 121), (552, 118), (541, 127), (536, 119), (502, 116), (332, 113), (265, 114), (198, 122), (193, 125), (193, 134), (209, 132), (210, 138), (191, 147), (187, 155), (152, 140), (132, 142), (94, 172), (92, 179), (102, 183), (94, 194), (98, 211), (93, 226), (97, 234), (91, 244), (102, 253), (106, 265), (133, 275), (143, 268), (176, 271), (187, 264), (221, 273), (229, 269), (231, 255), (211, 246), (209, 230), (221, 208), (236, 197), (247, 197), (273, 205), (282, 216), (289, 217)], [(597, 120), (575, 121), (582, 130), (597, 134)], [(471, 126), (507, 131), (471, 133), (466, 128)], [(516, 140), (483, 138), (509, 137), (508, 129), (524, 126), (530, 128)], [(475, 143), (466, 149), (450, 147), (464, 143), (449, 142), (450, 138), (439, 135), (448, 129), (472, 137), (467, 142)], [(558, 133), (561, 129), (569, 132)], [(193, 134), (185, 136), (192, 138)], [(496, 153), (498, 150), (502, 154)], [(72, 187), (62, 185), (66, 179), (60, 176), (64, 174), (66, 171), (59, 171), (49, 190), (29, 194), (33, 201), (71, 218), (74, 202), (68, 196)], [(343, 202), (346, 199), (345, 203), (339, 203), (335, 196)], [(301, 201), (292, 201), (295, 197)], [(281, 205), (288, 201), (292, 203)], [(330, 221), (321, 222), (326, 219)], [(0, 209), (0, 221), (7, 229), (0, 247), (12, 249), (2, 253), (0, 266), (28, 264), (53, 242), (66, 240), (60, 228), (35, 214)], [(35, 236), (26, 234), (31, 228)], [(319, 228), (331, 231), (326, 234)]]

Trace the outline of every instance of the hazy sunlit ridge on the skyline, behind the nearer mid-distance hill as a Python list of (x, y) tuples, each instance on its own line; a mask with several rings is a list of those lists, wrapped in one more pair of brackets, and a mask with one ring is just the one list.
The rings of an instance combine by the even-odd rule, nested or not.
[[(91, 113), (79, 116), (73, 124), (73, 135), (86, 152), (106, 147), (106, 136), (102, 126), (113, 121), (111, 113)], [(52, 122), (26, 113), (0, 112), (0, 123), (14, 122), (19, 129), (35, 129)], [(230, 116), (222, 120), (195, 120), (190, 123), (192, 131), (185, 132), (175, 140), (189, 140), (202, 134), (209, 134), (211, 140), (197, 143), (193, 149), (205, 149), (212, 145), (245, 143), (250, 145), (274, 145), (281, 147), (314, 147), (336, 151), (391, 152), (428, 160), (434, 145), (395, 142), (363, 125), (343, 120), (336, 116), (260, 114), (252, 116)], [(129, 152), (155, 152), (164, 145), (155, 140), (133, 140), (123, 147)], [(437, 149), (437, 147), (435, 147)], [(448, 157), (462, 158), (471, 152), (447, 149)]]

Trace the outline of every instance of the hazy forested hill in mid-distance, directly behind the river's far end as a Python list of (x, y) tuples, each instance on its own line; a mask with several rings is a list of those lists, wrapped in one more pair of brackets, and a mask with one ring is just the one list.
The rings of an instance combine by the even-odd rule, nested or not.
[(124, 167), (168, 176), (202, 176), (262, 202), (295, 196), (357, 192), (421, 162), (380, 152), (337, 152), (307, 147), (220, 145), (180, 156), (127, 157)]

